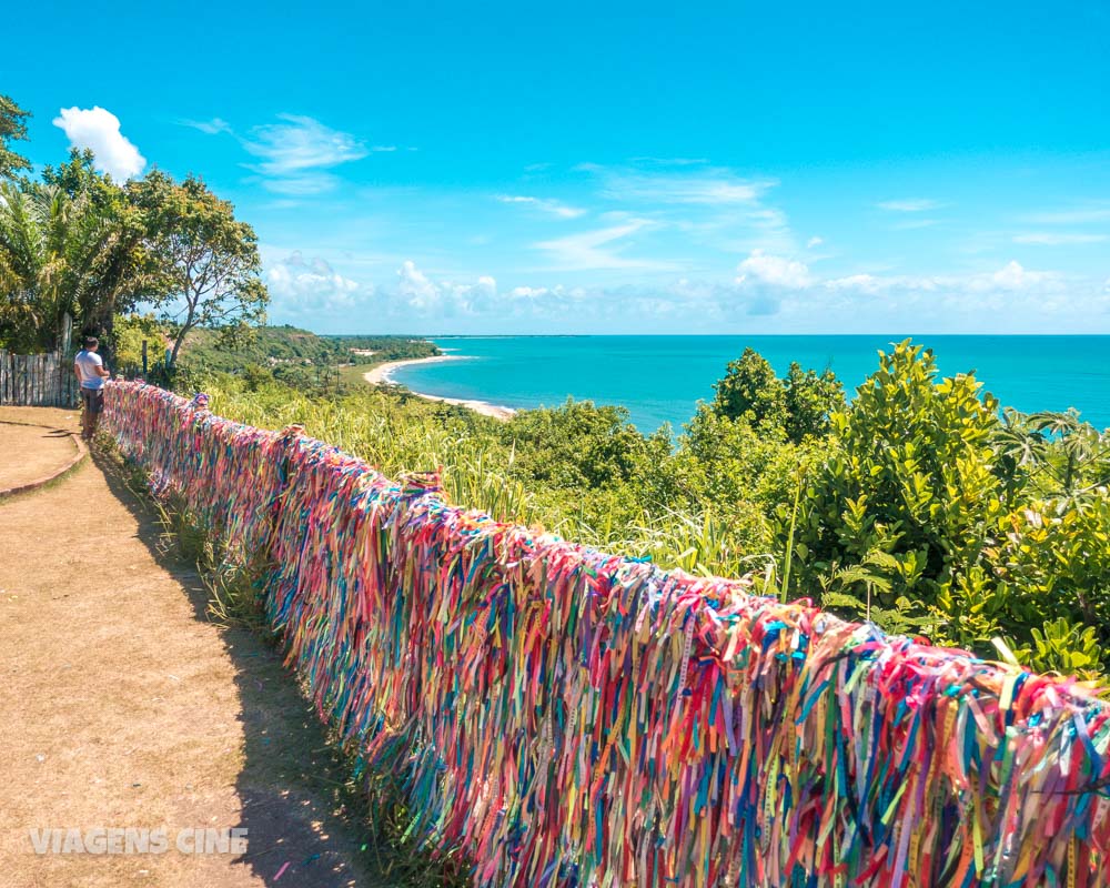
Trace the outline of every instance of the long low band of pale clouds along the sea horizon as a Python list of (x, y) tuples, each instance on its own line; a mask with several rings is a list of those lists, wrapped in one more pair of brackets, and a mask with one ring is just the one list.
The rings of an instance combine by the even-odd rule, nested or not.
[[(274, 319), (333, 332), (1078, 332), (1110, 330), (1110, 281), (1017, 262), (961, 274), (860, 272), (823, 278), (804, 263), (749, 255), (736, 281), (679, 279), (615, 287), (445, 280), (413, 261), (393, 283), (360, 286), (294, 254), (269, 273)], [(376, 263), (375, 263), (376, 264)], [(294, 311), (296, 312), (294, 314)], [(315, 314), (313, 315), (313, 312)]]

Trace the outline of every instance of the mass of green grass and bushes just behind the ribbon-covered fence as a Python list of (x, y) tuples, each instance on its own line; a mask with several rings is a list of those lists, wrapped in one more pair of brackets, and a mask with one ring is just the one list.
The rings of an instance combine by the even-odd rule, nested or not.
[[(1110, 441), (1074, 414), (1000, 416), (909, 342), (850, 404), (830, 373), (746, 353), (673, 442), (572, 402), (501, 423), (403, 392), (209, 381), (213, 410), (300, 423), (455, 503), (938, 644), (1086, 677), (1110, 667)], [(793, 395), (791, 395), (793, 393)]]

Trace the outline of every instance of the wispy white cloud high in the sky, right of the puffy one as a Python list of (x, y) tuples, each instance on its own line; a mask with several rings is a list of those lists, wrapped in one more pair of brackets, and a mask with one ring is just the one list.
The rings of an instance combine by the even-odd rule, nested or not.
[(324, 170), (360, 160), (370, 152), (355, 137), (317, 120), (279, 114), (281, 123), (255, 127), (243, 141), (261, 159), (252, 169), (266, 176), (265, 188), (280, 194), (315, 194), (335, 186), (337, 179)]

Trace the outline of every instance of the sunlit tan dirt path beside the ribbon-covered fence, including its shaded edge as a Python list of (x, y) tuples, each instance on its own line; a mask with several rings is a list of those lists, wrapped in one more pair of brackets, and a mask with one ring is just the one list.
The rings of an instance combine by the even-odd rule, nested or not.
[[(62, 411), (4, 418), (75, 427)], [(104, 467), (0, 502), (0, 882), (389, 884), (369, 875), (341, 763), (274, 652), (205, 619), (195, 573), (160, 554), (153, 515)], [(97, 827), (163, 829), (170, 848), (33, 850), (31, 829)], [(175, 848), (180, 830), (232, 827), (245, 854)]]

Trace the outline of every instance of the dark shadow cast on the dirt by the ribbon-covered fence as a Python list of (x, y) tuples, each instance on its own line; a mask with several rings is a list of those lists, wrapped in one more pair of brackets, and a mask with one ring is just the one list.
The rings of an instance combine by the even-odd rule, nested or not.
[[(195, 618), (208, 622), (208, 592), (195, 567), (165, 545), (155, 508), (128, 487), (114, 460), (93, 460), (138, 521), (140, 539), (188, 591)], [(235, 668), (245, 743), (235, 789), (249, 847), (236, 862), (276, 888), (412, 885), (390, 876), (403, 852), (367, 838), (365, 798), (280, 650), (246, 629), (222, 629), (221, 637)]]

